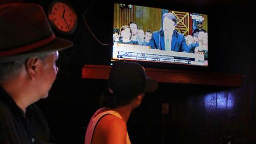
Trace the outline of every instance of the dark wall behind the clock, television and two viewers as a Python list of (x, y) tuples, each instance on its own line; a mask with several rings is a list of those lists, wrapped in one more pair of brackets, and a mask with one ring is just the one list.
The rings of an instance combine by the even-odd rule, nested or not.
[[(36, 1), (46, 12), (51, 2)], [(83, 143), (86, 125), (98, 109), (98, 98), (107, 81), (82, 79), (82, 66), (109, 65), (111, 47), (95, 40), (84, 24), (83, 13), (90, 7), (85, 20), (93, 34), (107, 44), (111, 42), (113, 4), (69, 3), (77, 12), (77, 29), (67, 36), (55, 34), (70, 39), (74, 46), (60, 52), (58, 78), (49, 97), (37, 103), (58, 143)], [(229, 136), (231, 143), (256, 143), (255, 7), (207, 10), (210, 72), (243, 74), (243, 87), (159, 83), (157, 91), (147, 94), (127, 123), (133, 143), (215, 144), (227, 143)], [(169, 114), (162, 114), (162, 103), (169, 103)]]

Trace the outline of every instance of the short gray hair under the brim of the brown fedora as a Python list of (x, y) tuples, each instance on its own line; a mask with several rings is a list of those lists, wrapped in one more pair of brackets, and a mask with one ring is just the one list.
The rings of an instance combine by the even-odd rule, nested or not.
[[(44, 60), (49, 54), (50, 53), (37, 54), (34, 57)], [(23, 64), (28, 59), (20, 59), (20, 60), (15, 60), (11, 62), (5, 62), (5, 63), (0, 62), (0, 82), (4, 82), (10, 78), (19, 76), (21, 70), (25, 68)]]

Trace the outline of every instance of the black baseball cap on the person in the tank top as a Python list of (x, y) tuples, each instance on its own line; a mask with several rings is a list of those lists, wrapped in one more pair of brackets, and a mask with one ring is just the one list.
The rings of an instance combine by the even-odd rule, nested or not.
[(108, 87), (115, 94), (153, 92), (158, 83), (146, 76), (145, 69), (136, 62), (118, 62), (111, 68)]

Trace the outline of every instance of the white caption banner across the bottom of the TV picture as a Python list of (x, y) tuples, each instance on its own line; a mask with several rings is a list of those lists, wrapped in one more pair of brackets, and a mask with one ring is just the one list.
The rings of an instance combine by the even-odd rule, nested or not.
[(114, 43), (114, 60), (140, 60), (205, 66), (204, 53), (185, 53), (149, 49), (149, 46)]

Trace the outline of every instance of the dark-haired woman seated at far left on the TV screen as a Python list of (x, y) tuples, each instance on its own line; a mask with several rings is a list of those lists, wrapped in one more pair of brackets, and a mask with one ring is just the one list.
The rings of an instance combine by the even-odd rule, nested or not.
[(121, 27), (119, 35), (120, 35), (120, 39), (119, 41), (117, 41), (117, 43), (135, 44), (135, 45), (139, 44), (137, 41), (131, 40), (131, 29), (129, 26)]

